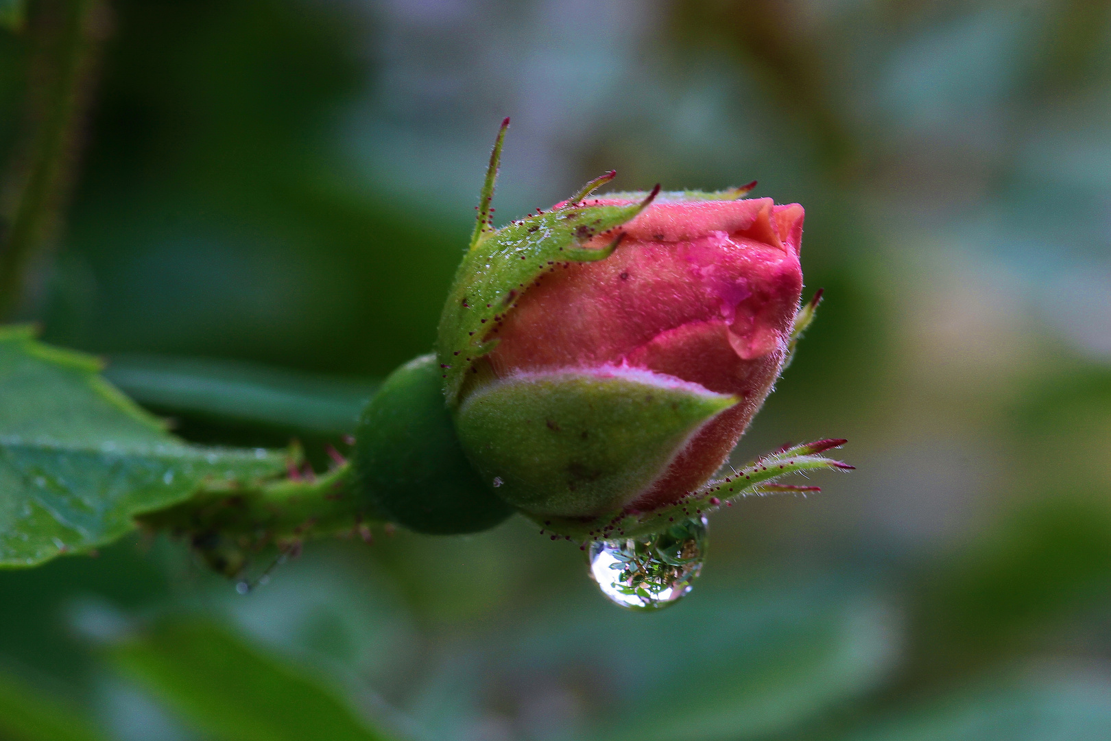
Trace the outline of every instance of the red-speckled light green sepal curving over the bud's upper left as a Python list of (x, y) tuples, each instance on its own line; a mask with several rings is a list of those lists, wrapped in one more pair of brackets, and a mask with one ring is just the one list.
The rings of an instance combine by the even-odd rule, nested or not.
[(479, 240), (464, 257), (440, 316), (438, 359), (448, 402), (454, 405), (473, 361), (493, 349), (487, 339), (517, 299), (562, 262), (591, 262), (609, 257), (607, 248), (583, 243), (640, 213), (654, 193), (632, 206), (569, 207), (528, 217)]

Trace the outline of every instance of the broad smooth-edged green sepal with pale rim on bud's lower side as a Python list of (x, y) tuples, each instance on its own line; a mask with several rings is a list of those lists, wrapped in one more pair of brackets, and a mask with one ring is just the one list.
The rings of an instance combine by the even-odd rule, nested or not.
[(468, 394), (463, 450), (531, 517), (591, 517), (644, 491), (703, 423), (738, 402), (671, 377), (603, 368), (520, 374)]

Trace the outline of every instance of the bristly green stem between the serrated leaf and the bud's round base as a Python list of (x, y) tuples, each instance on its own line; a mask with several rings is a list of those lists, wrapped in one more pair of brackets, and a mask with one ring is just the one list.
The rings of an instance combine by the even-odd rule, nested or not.
[(219, 485), (171, 508), (137, 518), (151, 531), (188, 538), (212, 568), (239, 574), (250, 552), (297, 547), (309, 538), (370, 537), (384, 518), (360, 497), (350, 462), (312, 480)]

